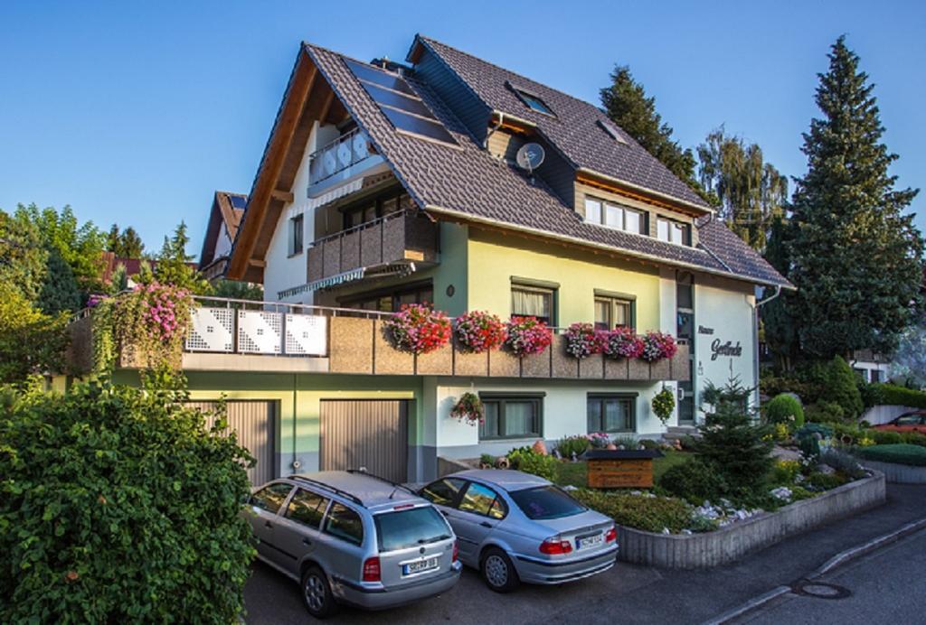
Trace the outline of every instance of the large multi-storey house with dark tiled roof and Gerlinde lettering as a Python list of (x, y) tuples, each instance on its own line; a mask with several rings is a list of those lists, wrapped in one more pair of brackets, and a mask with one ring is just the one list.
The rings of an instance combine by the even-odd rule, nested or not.
[[(597, 107), (420, 35), (404, 64), (300, 46), (224, 271), (268, 301), (198, 309), (183, 367), (194, 400), (228, 398), (255, 482), (420, 481), (538, 438), (658, 436), (663, 387), (680, 398), (669, 425), (694, 424), (707, 382), (757, 381), (757, 288), (792, 288)], [(578, 361), (557, 335), (523, 359), (415, 356), (383, 332), (413, 302), (658, 330), (680, 349)], [(449, 416), (466, 391), (481, 425)]]

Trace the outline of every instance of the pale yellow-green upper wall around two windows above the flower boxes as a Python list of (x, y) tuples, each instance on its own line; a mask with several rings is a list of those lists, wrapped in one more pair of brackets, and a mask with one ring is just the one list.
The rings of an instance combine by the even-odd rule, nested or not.
[(553, 242), (470, 230), (469, 310), (511, 313), (511, 278), (555, 282), (557, 325), (594, 321), (594, 290), (636, 296), (637, 330), (659, 327), (657, 267), (573, 250)]

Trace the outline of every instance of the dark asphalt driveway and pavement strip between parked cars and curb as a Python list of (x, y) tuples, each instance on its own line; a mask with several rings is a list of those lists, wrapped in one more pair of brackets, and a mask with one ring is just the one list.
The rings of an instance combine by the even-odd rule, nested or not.
[[(884, 506), (795, 536), (727, 567), (672, 571), (619, 563), (588, 580), (560, 587), (522, 587), (508, 595), (492, 593), (474, 571), (464, 570), (457, 586), (443, 596), (382, 613), (345, 608), (333, 622), (702, 623), (772, 588), (806, 577), (845, 549), (923, 517), (926, 486), (892, 484)], [(923, 573), (926, 570), (921, 571), (919, 579), (926, 577)], [(922, 597), (920, 590), (911, 600), (922, 604)], [(300, 603), (296, 584), (259, 563), (244, 588), (244, 603), (248, 623), (311, 622)], [(923, 614), (926, 617), (926, 611)]]

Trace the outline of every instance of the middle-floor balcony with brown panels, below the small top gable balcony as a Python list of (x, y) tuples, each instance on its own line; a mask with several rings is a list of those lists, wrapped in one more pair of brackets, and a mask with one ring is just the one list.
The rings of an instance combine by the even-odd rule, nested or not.
[[(360, 277), (391, 265), (437, 263), (438, 227), (418, 211), (387, 214), (314, 241), (308, 249), (308, 290), (338, 276)], [(313, 288), (313, 286), (315, 286)]]

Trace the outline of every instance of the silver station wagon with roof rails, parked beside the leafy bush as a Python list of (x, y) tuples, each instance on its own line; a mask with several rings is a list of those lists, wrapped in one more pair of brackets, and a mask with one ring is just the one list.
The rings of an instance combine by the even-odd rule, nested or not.
[(307, 610), (401, 606), (450, 590), (461, 565), (444, 517), (400, 484), (362, 472), (273, 480), (248, 500), (257, 557), (300, 582)]

